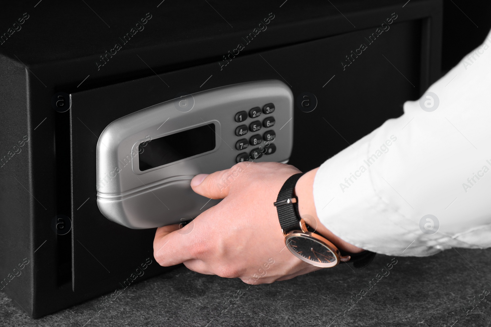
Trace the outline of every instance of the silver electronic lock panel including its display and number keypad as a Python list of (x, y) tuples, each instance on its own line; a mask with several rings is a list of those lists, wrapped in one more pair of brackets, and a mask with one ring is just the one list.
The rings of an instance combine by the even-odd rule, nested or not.
[(191, 178), (243, 161), (287, 162), (293, 95), (279, 80), (234, 84), (162, 102), (110, 123), (97, 143), (97, 205), (109, 220), (153, 228), (218, 203)]

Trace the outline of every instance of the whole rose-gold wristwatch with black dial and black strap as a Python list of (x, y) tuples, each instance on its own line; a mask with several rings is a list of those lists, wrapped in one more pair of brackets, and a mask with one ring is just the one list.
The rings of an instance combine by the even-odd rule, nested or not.
[(353, 262), (353, 266), (358, 269), (366, 267), (372, 262), (375, 252), (348, 253), (339, 250), (324, 236), (312, 230), (312, 227), (300, 217), (295, 185), (303, 174), (290, 176), (281, 187), (276, 202), (273, 203), (278, 212), (288, 250), (300, 260), (317, 267), (330, 268), (341, 261)]

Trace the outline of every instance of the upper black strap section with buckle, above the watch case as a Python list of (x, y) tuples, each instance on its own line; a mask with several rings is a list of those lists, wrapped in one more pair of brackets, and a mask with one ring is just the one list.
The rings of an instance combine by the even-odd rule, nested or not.
[(300, 214), (297, 204), (297, 197), (295, 193), (295, 185), (299, 178), (305, 173), (299, 173), (290, 176), (281, 190), (279, 190), (278, 198), (274, 205), (278, 212), (279, 224), (284, 233), (288, 233), (290, 230), (300, 229)]

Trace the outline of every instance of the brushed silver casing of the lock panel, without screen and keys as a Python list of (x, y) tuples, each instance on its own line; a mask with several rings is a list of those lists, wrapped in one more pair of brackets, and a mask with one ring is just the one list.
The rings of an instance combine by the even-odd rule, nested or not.
[[(239, 111), (273, 102), (273, 114), (234, 120)], [(180, 105), (181, 104), (181, 105)], [(191, 109), (190, 109), (191, 108)], [(287, 162), (293, 146), (293, 94), (279, 80), (264, 80), (219, 87), (165, 101), (136, 111), (110, 123), (97, 143), (97, 205), (109, 220), (130, 228), (153, 228), (195, 218), (219, 200), (195, 194), (191, 178), (230, 168), (239, 153), (241, 138), (235, 128), (273, 116), (276, 152), (254, 161)], [(215, 124), (216, 146), (212, 151), (140, 171), (138, 147), (145, 142), (189, 128)], [(264, 142), (263, 142), (264, 145)], [(209, 201), (210, 200), (210, 201)]]

